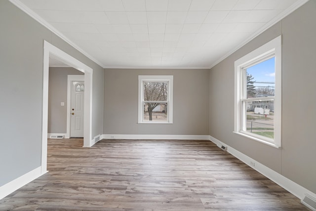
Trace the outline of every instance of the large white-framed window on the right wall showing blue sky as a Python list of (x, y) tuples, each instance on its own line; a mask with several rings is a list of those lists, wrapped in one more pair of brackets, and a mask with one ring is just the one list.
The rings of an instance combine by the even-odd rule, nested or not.
[(281, 36), (235, 62), (234, 130), (281, 146)]

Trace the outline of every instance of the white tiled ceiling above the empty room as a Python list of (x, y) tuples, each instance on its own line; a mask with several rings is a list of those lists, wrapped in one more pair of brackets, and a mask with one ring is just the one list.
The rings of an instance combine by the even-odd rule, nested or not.
[(210, 68), (306, 1), (11, 0), (104, 68)]

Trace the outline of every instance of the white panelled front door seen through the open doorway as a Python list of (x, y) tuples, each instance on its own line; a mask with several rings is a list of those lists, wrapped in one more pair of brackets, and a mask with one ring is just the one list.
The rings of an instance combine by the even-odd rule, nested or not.
[(84, 82), (71, 82), (70, 137), (83, 137)]

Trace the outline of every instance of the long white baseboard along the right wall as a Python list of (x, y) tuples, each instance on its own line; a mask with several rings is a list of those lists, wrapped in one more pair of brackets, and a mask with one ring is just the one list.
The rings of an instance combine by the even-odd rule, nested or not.
[(266, 167), (265, 165), (259, 163), (258, 161), (255, 161), (254, 159), (246, 156), (245, 154), (239, 152), (238, 150), (234, 149), (233, 147), (228, 146), (227, 144), (221, 142), (220, 140), (209, 136), (209, 140), (215, 143), (218, 147), (226, 146), (227, 152), (229, 152), (231, 155), (235, 156), (238, 160), (242, 161), (243, 163), (247, 164), (252, 169), (255, 169), (259, 173), (265, 175), (272, 181), (274, 181), (276, 184), (293, 194), (299, 199), (304, 199), (305, 194), (309, 194), (312, 197), (316, 198), (316, 194), (309, 191), (308, 189), (302, 187), (301, 185), (293, 182), (292, 180), (288, 179), (287, 177), (279, 174), (278, 172)]

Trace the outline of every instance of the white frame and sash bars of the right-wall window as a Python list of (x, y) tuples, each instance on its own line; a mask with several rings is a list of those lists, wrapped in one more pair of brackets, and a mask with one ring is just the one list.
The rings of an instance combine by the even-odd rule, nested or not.
[[(282, 50), (281, 50), (281, 36), (276, 37), (270, 42), (262, 45), (261, 47), (251, 51), (245, 56), (239, 58), (235, 61), (235, 118), (234, 118), (234, 133), (245, 136), (247, 138), (259, 141), (261, 143), (265, 143), (267, 145), (280, 148), (281, 147), (281, 112), (282, 112), (282, 85), (281, 85), (281, 72), (282, 72)], [(241, 97), (245, 93), (241, 93), (244, 91), (244, 80), (241, 80), (241, 77), (244, 75), (243, 69), (246, 67), (253, 66), (257, 63), (260, 63), (269, 56), (274, 55), (275, 57), (275, 96), (274, 96), (274, 139), (267, 138), (261, 135), (257, 135), (254, 133), (246, 132), (242, 130), (242, 101)], [(241, 84), (242, 83), (242, 84)], [(263, 100), (266, 97), (258, 97), (256, 99)], [(253, 98), (248, 98), (253, 99)], [(247, 100), (248, 100), (247, 99)]]

